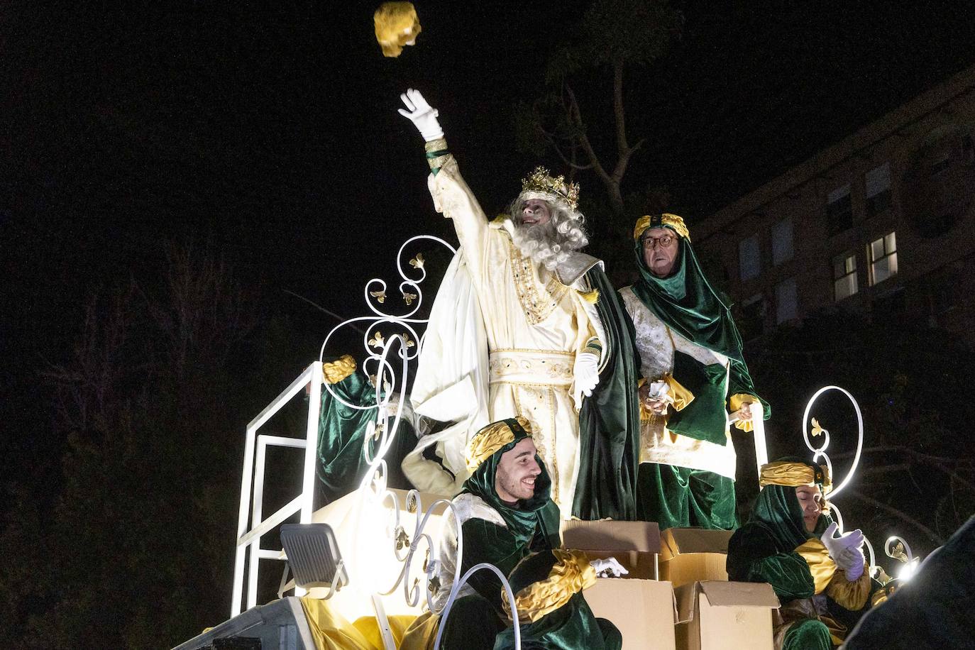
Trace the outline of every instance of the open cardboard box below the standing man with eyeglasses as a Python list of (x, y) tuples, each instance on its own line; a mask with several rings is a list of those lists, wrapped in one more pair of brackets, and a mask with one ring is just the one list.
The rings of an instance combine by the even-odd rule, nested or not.
[(660, 540), (660, 579), (677, 589), (688, 583), (727, 580), (730, 530), (668, 528)]

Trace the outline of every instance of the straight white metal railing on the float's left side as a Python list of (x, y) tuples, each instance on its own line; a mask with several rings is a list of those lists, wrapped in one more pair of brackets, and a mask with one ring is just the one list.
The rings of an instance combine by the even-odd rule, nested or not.
[[(305, 438), (284, 438), (280, 436), (258, 435), (260, 429), (275, 413), (292, 400), (306, 386), (308, 392), (308, 417)], [(244, 443), (244, 472), (241, 477), (241, 505), (237, 519), (237, 552), (234, 557), (234, 586), (230, 603), (230, 616), (241, 613), (244, 597), (244, 566), (248, 563), (247, 606), (257, 604), (257, 575), (261, 559), (281, 559), (280, 550), (260, 548), (260, 538), (276, 528), (288, 517), (300, 511), (299, 521), (309, 523), (312, 516), (312, 497), (315, 491), (315, 462), (318, 447), (318, 418), (322, 404), (322, 363), (316, 362), (305, 368), (292, 381), (291, 385), (264, 407), (247, 426)], [(288, 505), (273, 515), (263, 517), (264, 499), (264, 461), (268, 446), (304, 449), (304, 469), (301, 478), (301, 491)], [(256, 459), (255, 456), (256, 448)], [(250, 527), (248, 524), (250, 523)], [(247, 552), (250, 550), (250, 557)], [(296, 589), (295, 595), (303, 595), (304, 590)]]

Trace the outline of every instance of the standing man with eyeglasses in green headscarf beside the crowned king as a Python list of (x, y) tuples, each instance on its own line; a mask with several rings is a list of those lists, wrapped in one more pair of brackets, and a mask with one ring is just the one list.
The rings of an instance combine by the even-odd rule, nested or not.
[[(642, 385), (637, 514), (660, 528), (737, 527), (729, 422), (769, 415), (742, 358), (727, 303), (701, 271), (677, 214), (634, 230), (640, 281), (620, 289), (633, 319)], [(754, 409), (754, 411), (753, 411)]]

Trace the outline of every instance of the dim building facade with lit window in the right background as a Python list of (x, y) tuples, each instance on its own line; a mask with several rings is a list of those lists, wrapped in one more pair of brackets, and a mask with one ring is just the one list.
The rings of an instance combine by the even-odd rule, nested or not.
[(746, 340), (823, 309), (975, 343), (975, 66), (694, 224)]

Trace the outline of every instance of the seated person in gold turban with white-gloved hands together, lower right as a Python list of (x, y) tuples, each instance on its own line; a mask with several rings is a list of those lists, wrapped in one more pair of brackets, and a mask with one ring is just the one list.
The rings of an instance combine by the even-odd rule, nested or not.
[(823, 466), (778, 460), (761, 466), (760, 483), (751, 518), (728, 541), (728, 579), (775, 590), (778, 650), (830, 650), (879, 588), (866, 571), (863, 533), (836, 535)]

